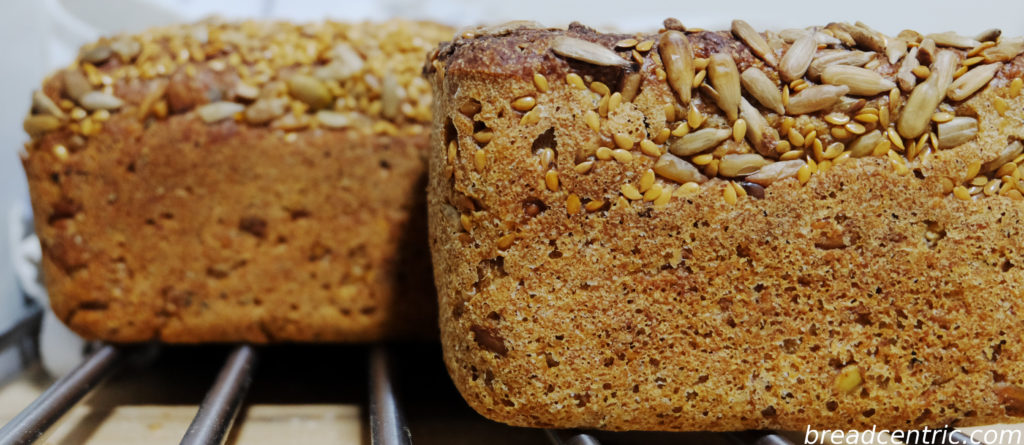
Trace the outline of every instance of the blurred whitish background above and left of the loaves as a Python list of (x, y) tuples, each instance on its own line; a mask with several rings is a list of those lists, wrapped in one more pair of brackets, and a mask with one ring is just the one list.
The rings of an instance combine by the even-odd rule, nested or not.
[[(1000, 28), (1024, 35), (1024, 1), (861, 0), (851, 2), (765, 0), (645, 0), (559, 2), (557, 0), (35, 0), (6, 1), (0, 14), (0, 329), (22, 310), (10, 267), (8, 215), (27, 201), (25, 176), (16, 150), (26, 136), (22, 119), (32, 89), (42, 77), (72, 60), (77, 45), (101, 34), (138, 31), (147, 26), (197, 19), (211, 13), (228, 18), (286, 17), (315, 20), (381, 19), (388, 16), (431, 18), (456, 26), (534, 19), (565, 25), (573, 19), (596, 28), (648, 31), (675, 16), (688, 27), (725, 29), (732, 18), (756, 28), (781, 29), (824, 25), (833, 20), (863, 20), (896, 34), (905, 28), (921, 32), (955, 30), (974, 35)], [(7, 364), (5, 364), (7, 363)], [(0, 375), (9, 361), (0, 357)]]

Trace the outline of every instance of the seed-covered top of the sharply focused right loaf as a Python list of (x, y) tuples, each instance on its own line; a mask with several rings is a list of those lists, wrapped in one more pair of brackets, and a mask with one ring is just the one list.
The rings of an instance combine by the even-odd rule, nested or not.
[[(643, 151), (659, 157), (653, 171), (671, 183), (720, 177), (736, 181), (740, 194), (761, 194), (779, 179), (806, 182), (820, 164), (879, 157), (900, 174), (941, 177), (944, 193), (965, 199), (982, 195), (985, 185), (1016, 198), (1024, 192), (1008, 166), (1024, 161), (1024, 115), (1011, 103), (1024, 87), (1024, 38), (995, 30), (981, 40), (912, 31), (889, 37), (859, 23), (765, 33), (744, 32), (741, 20), (732, 32), (685, 30), (671, 18), (666, 27), (636, 35), (580, 24), (465, 31), (431, 54), (425, 73), (535, 85), (540, 78), (589, 90), (597, 109), (583, 118), (601, 140), (577, 152), (579, 171), (616, 150)], [(666, 43), (669, 33), (688, 49), (667, 66), (665, 47), (679, 46)], [(807, 39), (815, 42), (810, 49), (794, 48)], [(678, 74), (679, 58), (688, 60), (688, 76)], [(691, 82), (685, 94), (680, 78)], [(523, 106), (531, 106), (543, 94), (523, 90), (509, 100), (526, 98)], [(620, 108), (626, 102), (633, 106)], [(516, 106), (524, 122), (536, 121)], [(628, 120), (642, 120), (646, 134), (624, 130)]]

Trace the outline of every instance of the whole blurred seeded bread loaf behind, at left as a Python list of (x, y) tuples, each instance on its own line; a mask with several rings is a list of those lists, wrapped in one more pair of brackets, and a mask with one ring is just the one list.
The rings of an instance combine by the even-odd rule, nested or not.
[(114, 342), (434, 331), (421, 72), (451, 35), (208, 21), (84, 47), (25, 121), (56, 315)]

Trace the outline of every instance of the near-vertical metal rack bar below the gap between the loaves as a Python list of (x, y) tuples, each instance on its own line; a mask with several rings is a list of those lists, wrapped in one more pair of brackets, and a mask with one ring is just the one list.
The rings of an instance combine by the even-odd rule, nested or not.
[(391, 385), (391, 355), (383, 346), (370, 353), (370, 441), (373, 445), (413, 445)]

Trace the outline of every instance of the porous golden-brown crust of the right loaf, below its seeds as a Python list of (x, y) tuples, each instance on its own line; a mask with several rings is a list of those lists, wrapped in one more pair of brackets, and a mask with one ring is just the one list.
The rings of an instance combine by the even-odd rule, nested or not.
[[(639, 94), (594, 131), (588, 112), (606, 95), (566, 76), (621, 91), (624, 70), (566, 61), (552, 42), (567, 34), (610, 48), (632, 36), (480, 34), (442, 46), (427, 66), (441, 338), (477, 411), (517, 426), (676, 431), (1020, 415), (1008, 395), (1024, 387), (1024, 205), (962, 201), (943, 180), (969, 181), (973, 164), (1024, 137), (1024, 99), (1008, 93), (1009, 79), (955, 104), (977, 118), (976, 138), (903, 161), (905, 172), (888, 157), (851, 159), (803, 184), (776, 181), (763, 198), (719, 177), (693, 187), (658, 177), (671, 193), (658, 203), (622, 188), (655, 163), (639, 144), (607, 161), (579, 150), (685, 125), (663, 112), (678, 99), (657, 79), (659, 60), (626, 69), (645, 76)], [(690, 36), (697, 54), (708, 42), (746, 51), (724, 33)], [(637, 40), (646, 38), (656, 36)], [(736, 56), (740, 71), (764, 66), (749, 57)], [(524, 95), (536, 98), (526, 113), (513, 105)], [(720, 113), (694, 97), (706, 116)]]

